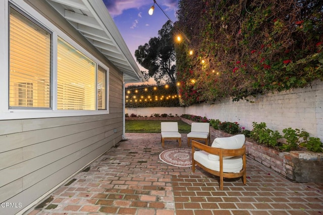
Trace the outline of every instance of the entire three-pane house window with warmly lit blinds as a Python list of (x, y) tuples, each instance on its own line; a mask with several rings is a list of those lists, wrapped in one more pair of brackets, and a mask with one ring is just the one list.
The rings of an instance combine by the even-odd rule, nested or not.
[[(14, 6), (9, 10), (9, 108), (107, 111), (108, 68), (66, 35), (51, 32)], [(64, 113), (50, 113), (57, 112)]]

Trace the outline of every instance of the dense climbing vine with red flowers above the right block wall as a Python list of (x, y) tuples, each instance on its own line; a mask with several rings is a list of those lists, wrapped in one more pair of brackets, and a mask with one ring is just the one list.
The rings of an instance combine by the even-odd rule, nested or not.
[(320, 0), (181, 0), (176, 25), (190, 39), (176, 45), (185, 105), (238, 101), (323, 78)]

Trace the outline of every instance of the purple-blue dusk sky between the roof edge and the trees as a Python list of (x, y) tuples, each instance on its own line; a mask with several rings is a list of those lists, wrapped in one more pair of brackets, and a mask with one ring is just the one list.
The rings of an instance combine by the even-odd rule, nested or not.
[[(153, 0), (103, 0), (103, 2), (135, 60), (134, 53), (138, 46), (144, 45), (149, 42), (150, 38), (158, 36), (158, 30), (168, 20), (157, 5), (155, 5), (153, 15), (148, 14)], [(178, 0), (156, 0), (156, 3), (173, 22), (176, 21)], [(138, 66), (144, 70), (139, 64)]]

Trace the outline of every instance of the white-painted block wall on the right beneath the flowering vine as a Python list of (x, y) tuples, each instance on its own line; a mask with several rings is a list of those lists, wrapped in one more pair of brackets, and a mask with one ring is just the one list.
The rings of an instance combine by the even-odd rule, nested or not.
[(192, 105), (185, 108), (185, 113), (238, 122), (248, 130), (252, 129), (252, 122), (265, 122), (268, 128), (281, 133), (288, 127), (303, 128), (310, 136), (323, 141), (323, 82), (316, 81), (308, 88), (248, 99), (252, 102), (224, 99), (214, 104)]

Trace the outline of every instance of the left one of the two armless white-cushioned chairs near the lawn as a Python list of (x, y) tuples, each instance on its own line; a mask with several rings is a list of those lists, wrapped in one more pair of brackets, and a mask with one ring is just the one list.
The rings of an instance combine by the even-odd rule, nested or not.
[(161, 146), (164, 147), (165, 139), (176, 139), (181, 147), (182, 135), (178, 132), (177, 122), (161, 122)]

